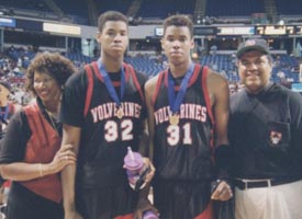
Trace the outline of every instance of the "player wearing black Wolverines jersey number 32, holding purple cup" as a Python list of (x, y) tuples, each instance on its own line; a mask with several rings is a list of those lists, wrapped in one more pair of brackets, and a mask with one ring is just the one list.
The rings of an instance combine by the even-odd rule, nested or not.
[[(139, 195), (128, 186), (123, 169), (127, 147), (138, 151), (143, 139), (146, 76), (123, 62), (127, 19), (109, 11), (98, 25), (101, 57), (70, 78), (63, 96), (63, 142), (78, 154), (77, 169), (63, 171), (65, 219), (130, 219), (153, 208), (146, 191)], [(152, 166), (148, 182), (154, 168), (145, 161)]]

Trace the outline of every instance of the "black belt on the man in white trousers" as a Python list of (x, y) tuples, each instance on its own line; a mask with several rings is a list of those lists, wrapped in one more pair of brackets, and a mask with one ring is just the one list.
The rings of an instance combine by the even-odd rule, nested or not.
[(241, 180), (234, 178), (234, 184), (239, 189), (256, 188), (256, 187), (270, 187), (276, 185), (282, 185), (287, 183), (293, 183), (300, 181), (301, 176), (282, 177), (282, 178), (268, 178), (268, 180)]

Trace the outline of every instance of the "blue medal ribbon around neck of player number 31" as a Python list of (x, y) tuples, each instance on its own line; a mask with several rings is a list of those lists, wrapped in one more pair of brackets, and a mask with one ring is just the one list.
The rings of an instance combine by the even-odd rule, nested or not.
[(170, 111), (172, 112), (172, 114), (176, 114), (177, 112), (179, 112), (180, 105), (182, 103), (182, 100), (184, 97), (187, 88), (188, 88), (188, 83), (190, 78), (193, 74), (193, 70), (194, 70), (194, 66), (193, 64), (190, 65), (188, 71), (186, 72), (184, 78), (182, 79), (181, 83), (180, 83), (180, 89), (176, 95), (175, 92), (175, 81), (172, 79), (171, 72), (169, 71), (168, 73), (168, 95), (169, 95), (169, 106), (170, 106)]

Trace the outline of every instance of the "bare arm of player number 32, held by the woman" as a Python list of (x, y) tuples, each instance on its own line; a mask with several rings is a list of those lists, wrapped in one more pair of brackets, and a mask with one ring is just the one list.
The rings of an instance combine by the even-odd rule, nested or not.
[[(71, 145), (72, 150), (78, 157), (81, 129), (75, 126), (63, 125), (61, 146)], [(61, 171), (63, 186), (63, 204), (65, 210), (65, 219), (82, 219), (76, 210), (75, 193), (76, 193), (76, 165), (67, 165)]]

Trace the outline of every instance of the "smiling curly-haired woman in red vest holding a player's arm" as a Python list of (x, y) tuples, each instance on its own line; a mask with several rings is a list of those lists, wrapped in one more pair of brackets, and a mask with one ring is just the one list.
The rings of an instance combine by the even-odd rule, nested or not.
[(43, 53), (31, 62), (26, 87), (35, 101), (10, 120), (0, 154), (2, 177), (11, 180), (10, 219), (63, 219), (59, 172), (76, 163), (63, 146), (58, 122), (61, 90), (75, 67), (58, 54)]

